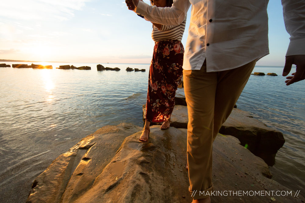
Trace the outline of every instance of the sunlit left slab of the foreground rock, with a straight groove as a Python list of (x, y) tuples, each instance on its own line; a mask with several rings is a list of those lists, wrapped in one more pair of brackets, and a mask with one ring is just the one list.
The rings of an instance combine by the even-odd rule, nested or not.
[(34, 180), (27, 202), (62, 202), (70, 192), (85, 192), (116, 154), (123, 140), (141, 129), (122, 123), (105, 126), (83, 138)]

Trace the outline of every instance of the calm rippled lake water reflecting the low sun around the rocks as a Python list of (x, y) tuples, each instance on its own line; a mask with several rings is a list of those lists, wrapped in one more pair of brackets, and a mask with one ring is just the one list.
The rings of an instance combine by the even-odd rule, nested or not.
[[(0, 68), (1, 202), (25, 202), (34, 179), (97, 129), (143, 125), (149, 64), (102, 64), (119, 72), (98, 72), (95, 63), (69, 64), (92, 70), (55, 69), (66, 63), (43, 64), (53, 69)], [(128, 66), (146, 72), (126, 72)], [(279, 76), (251, 75), (237, 106), (283, 132), (286, 142), (270, 170), (274, 180), (296, 191), (305, 188), (305, 81), (286, 86), (282, 68), (255, 67), (253, 72)]]

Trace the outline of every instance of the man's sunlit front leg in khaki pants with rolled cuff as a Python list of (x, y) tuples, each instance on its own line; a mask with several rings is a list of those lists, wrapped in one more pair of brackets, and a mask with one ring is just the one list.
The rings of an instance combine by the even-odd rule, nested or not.
[[(187, 159), (189, 191), (193, 199), (208, 197), (212, 184), (213, 116), (217, 72), (184, 70), (183, 83), (188, 105)], [(203, 194), (204, 193), (204, 194)]]

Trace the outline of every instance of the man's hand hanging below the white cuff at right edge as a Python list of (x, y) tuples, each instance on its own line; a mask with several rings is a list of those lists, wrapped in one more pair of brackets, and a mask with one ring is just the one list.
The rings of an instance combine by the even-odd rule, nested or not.
[(287, 76), (291, 71), (292, 64), (296, 65), (296, 72), (292, 73), (293, 76), (288, 76), (285, 82), (286, 85), (291, 85), (294, 82), (305, 79), (305, 55), (292, 55), (286, 56), (286, 62), (283, 70), (283, 76)]

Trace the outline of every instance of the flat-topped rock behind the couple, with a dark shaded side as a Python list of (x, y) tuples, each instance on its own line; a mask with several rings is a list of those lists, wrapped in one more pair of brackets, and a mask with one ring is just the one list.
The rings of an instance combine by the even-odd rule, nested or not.
[[(143, 120), (145, 120), (146, 114), (145, 106), (143, 105)], [(187, 107), (175, 105), (170, 119), (170, 126), (187, 128), (187, 124)], [(267, 127), (263, 122), (253, 118), (249, 112), (236, 108), (232, 110), (219, 132), (238, 138), (243, 146), (246, 145), (256, 155), (275, 154), (285, 143), (282, 132)]]

